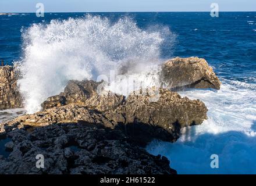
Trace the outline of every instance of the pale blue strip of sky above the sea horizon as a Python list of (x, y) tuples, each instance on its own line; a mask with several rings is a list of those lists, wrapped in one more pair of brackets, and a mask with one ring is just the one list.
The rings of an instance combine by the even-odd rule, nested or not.
[(0, 0), (0, 12), (35, 12), (38, 2), (45, 12), (208, 12), (213, 2), (220, 11), (256, 11), (256, 0)]

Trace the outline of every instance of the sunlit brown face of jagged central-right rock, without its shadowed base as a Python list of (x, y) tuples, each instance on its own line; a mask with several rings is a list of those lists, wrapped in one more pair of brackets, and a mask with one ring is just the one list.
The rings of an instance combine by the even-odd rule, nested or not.
[(182, 98), (177, 92), (159, 89), (157, 102), (150, 101), (150, 95), (134, 91), (123, 106), (118, 108), (126, 117), (126, 123), (141, 122), (162, 128), (172, 128), (179, 123), (181, 127), (201, 124), (207, 119), (207, 108), (199, 99)]

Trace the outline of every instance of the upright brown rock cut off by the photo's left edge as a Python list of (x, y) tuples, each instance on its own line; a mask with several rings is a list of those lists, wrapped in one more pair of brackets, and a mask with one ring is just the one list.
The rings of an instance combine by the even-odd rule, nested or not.
[(0, 67), (0, 109), (22, 107), (22, 96), (17, 88), (17, 77), (11, 66)]

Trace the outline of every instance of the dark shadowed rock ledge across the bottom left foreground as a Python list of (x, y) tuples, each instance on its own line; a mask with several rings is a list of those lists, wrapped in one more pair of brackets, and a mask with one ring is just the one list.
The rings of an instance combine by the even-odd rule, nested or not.
[[(6, 130), (11, 152), (0, 158), (0, 174), (176, 174), (164, 156), (150, 155), (122, 131), (95, 124)], [(38, 154), (44, 169), (36, 167)]]

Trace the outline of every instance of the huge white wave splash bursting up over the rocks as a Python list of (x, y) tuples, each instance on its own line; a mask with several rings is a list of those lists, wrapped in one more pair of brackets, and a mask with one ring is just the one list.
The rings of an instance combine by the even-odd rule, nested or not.
[(130, 67), (134, 71), (151, 69), (160, 61), (166, 34), (172, 34), (167, 27), (141, 30), (129, 17), (111, 23), (87, 15), (33, 24), (23, 32), (24, 59), (18, 65), (27, 112), (40, 110), (41, 103), (63, 91), (68, 80), (96, 80), (131, 61), (136, 61)]

